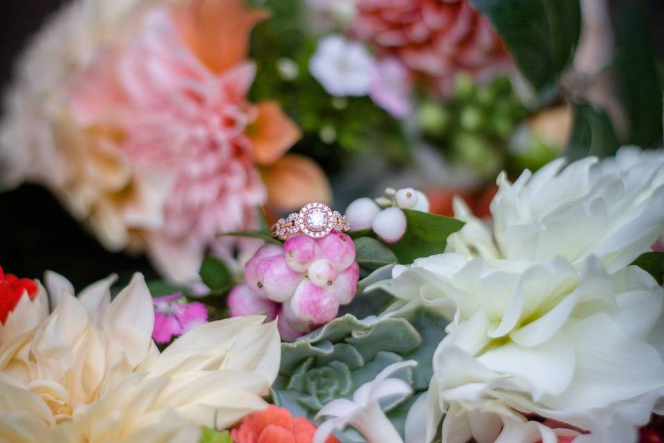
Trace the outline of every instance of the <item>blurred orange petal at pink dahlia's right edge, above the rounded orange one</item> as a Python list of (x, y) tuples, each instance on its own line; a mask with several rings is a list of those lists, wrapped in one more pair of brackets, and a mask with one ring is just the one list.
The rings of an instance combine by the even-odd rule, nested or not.
[(277, 102), (261, 102), (256, 106), (258, 117), (246, 133), (251, 141), (256, 162), (271, 165), (279, 160), (302, 136)]

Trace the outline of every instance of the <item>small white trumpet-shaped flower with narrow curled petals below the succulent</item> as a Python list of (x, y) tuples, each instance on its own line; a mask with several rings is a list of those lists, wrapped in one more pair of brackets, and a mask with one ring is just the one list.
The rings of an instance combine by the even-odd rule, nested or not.
[(393, 363), (376, 375), (374, 381), (363, 384), (353, 394), (353, 399), (335, 399), (323, 406), (315, 419), (324, 415), (335, 417), (318, 426), (313, 443), (323, 443), (335, 429), (347, 425), (356, 428), (369, 443), (403, 442), (399, 433), (380, 407), (380, 400), (389, 400), (392, 406), (412, 394), (412, 388), (401, 379), (388, 378), (394, 372), (416, 365), (414, 360)]

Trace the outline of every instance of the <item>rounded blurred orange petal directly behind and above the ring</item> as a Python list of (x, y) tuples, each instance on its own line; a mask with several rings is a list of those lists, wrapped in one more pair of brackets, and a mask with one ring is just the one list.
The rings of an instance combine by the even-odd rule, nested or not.
[(302, 208), (311, 201), (328, 203), (332, 192), (325, 173), (313, 160), (288, 154), (263, 170), (270, 206), (277, 212)]

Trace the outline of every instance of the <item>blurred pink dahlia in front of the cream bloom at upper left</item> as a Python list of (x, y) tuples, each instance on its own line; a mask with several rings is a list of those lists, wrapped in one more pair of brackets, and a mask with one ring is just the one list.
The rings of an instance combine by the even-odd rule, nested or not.
[[(150, 10), (130, 42), (100, 51), (72, 83), (77, 122), (104, 128), (139, 175), (162, 179), (159, 216), (130, 208), (127, 217), (174, 280), (195, 278), (206, 248), (224, 255), (229, 240), (216, 234), (254, 227), (267, 201), (257, 163), (277, 161), (299, 137), (277, 105), (247, 102), (252, 63), (197, 56), (200, 41), (187, 46), (191, 14)], [(245, 26), (261, 17), (242, 16)]]

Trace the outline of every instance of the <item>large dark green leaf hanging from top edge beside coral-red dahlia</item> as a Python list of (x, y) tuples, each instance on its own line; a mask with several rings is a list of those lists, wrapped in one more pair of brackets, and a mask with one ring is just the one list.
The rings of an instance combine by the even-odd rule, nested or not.
[(579, 39), (579, 0), (472, 0), (537, 91), (554, 84)]

